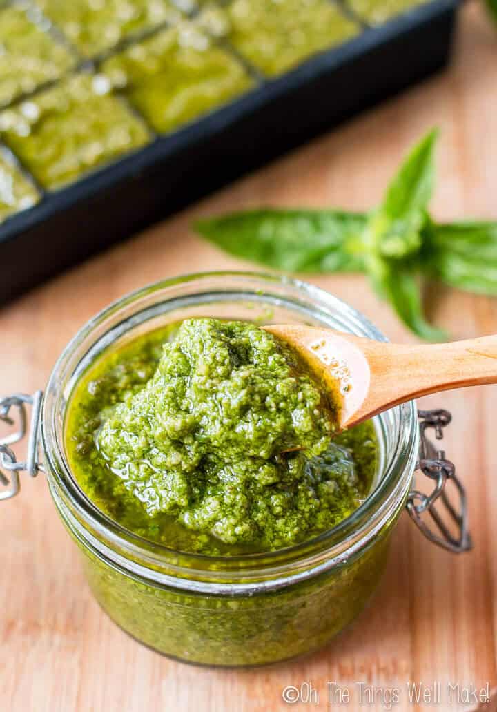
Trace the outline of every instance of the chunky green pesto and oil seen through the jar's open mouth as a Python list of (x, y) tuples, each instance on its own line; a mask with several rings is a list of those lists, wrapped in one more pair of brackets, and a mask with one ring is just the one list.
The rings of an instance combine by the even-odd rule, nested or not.
[(207, 555), (266, 553), (350, 515), (376, 467), (372, 424), (256, 325), (189, 319), (110, 349), (71, 398), (80, 487), (138, 535)]

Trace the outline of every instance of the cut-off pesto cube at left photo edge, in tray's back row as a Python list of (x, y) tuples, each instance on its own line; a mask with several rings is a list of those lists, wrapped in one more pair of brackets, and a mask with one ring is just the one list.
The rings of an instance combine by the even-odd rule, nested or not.
[(58, 79), (74, 60), (22, 6), (0, 9), (0, 104)]

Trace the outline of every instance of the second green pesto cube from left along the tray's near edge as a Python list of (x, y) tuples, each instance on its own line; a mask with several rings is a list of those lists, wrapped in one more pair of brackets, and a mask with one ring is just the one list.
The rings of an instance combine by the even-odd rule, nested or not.
[(0, 135), (46, 189), (149, 140), (103, 75), (78, 74), (0, 113)]

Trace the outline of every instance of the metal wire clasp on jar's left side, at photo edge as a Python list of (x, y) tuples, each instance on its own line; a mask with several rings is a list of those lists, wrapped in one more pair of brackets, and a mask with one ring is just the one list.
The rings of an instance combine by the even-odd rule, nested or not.
[[(26, 471), (31, 477), (36, 477), (43, 469), (38, 461), (38, 431), (42, 400), (43, 391), (36, 391), (32, 396), (16, 393), (0, 399), (0, 424), (4, 423), (9, 428), (14, 428), (11, 434), (0, 438), (0, 500), (10, 499), (19, 492), (21, 488), (19, 472)], [(10, 446), (26, 435), (26, 405), (32, 406), (28, 450), (26, 461), (18, 462)]]

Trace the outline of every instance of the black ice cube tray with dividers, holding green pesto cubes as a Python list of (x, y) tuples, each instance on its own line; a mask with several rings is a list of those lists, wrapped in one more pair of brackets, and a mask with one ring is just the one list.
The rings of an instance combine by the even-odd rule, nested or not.
[[(378, 22), (377, 14), (362, 14), (368, 1), (378, 2), (348, 0), (345, 4), (344, 0), (336, 4), (340, 13), (357, 25), (355, 36), (276, 76), (264, 76), (260, 68), (251, 65), (230, 46), (229, 36), (216, 38), (214, 41), (244, 66), (253, 82), (251, 88), (167, 134), (154, 130), (145, 117), (150, 130), (146, 145), (118, 155), (62, 187), (44, 189), (26, 161), (12, 151), (11, 159), (38, 191), (39, 199), (0, 224), (0, 301), (127, 238), (444, 67), (458, 0), (415, 6), (375, 26), (369, 22)], [(194, 20), (195, 10), (188, 21)], [(54, 36), (62, 34), (46, 19), (41, 26)], [(161, 31), (164, 26), (147, 30), (145, 36)], [(125, 38), (115, 50), (103, 54), (104, 61), (114, 51), (143, 39), (143, 33)], [(67, 44), (75, 56), (71, 73), (98, 74), (102, 57), (78, 57), (78, 49)], [(21, 102), (29, 103), (50, 91), (51, 85), (53, 82), (27, 98), (17, 98), (14, 110)], [(126, 96), (122, 100), (130, 115), (142, 121), (132, 102)], [(7, 145), (7, 150), (10, 148)]]

